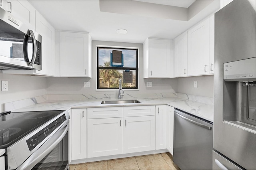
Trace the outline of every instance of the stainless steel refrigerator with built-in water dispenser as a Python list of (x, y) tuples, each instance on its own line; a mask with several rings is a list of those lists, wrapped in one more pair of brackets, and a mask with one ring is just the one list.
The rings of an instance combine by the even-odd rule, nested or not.
[(256, 0), (215, 14), (213, 169), (256, 170)]

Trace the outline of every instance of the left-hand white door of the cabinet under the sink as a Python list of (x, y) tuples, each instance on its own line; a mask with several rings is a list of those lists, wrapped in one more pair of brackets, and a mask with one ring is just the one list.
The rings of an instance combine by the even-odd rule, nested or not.
[(122, 119), (88, 119), (88, 158), (123, 153)]

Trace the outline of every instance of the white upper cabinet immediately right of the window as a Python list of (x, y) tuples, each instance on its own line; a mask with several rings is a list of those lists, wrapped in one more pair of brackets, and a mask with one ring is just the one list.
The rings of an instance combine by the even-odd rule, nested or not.
[(173, 77), (172, 40), (148, 38), (143, 43), (144, 78)]

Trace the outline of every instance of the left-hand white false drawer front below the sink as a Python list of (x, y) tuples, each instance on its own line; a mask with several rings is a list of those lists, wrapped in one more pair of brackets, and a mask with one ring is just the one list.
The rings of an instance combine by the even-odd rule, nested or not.
[(122, 107), (88, 108), (87, 119), (123, 117)]

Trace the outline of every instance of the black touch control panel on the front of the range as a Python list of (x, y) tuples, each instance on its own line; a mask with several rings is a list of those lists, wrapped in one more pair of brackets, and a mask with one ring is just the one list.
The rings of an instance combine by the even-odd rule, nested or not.
[(47, 136), (49, 136), (56, 128), (58, 128), (64, 121), (66, 121), (65, 114), (56, 119), (50, 125), (40, 130), (37, 134), (26, 140), (29, 150), (33, 150), (40, 142), (42, 142)]

